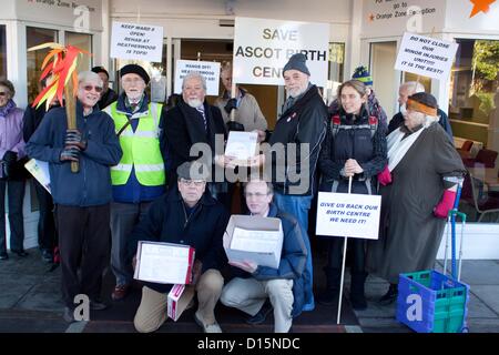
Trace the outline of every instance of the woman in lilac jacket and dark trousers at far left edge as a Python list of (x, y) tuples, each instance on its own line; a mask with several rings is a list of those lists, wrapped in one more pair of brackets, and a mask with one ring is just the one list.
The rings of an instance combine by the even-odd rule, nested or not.
[(19, 256), (24, 252), (24, 227), (22, 200), (24, 197), (26, 175), (22, 173), (21, 159), (24, 154), (22, 139), (23, 111), (12, 100), (16, 94), (13, 84), (0, 79), (0, 260), (9, 258), (6, 240), (6, 190), (9, 196), (10, 250)]

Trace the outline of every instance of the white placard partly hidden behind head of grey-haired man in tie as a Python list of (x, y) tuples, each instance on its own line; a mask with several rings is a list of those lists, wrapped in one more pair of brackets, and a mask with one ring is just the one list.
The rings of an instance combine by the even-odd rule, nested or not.
[(182, 81), (191, 71), (200, 72), (206, 80), (206, 94), (218, 95), (220, 63), (195, 60), (177, 60), (175, 68), (175, 93), (182, 93)]

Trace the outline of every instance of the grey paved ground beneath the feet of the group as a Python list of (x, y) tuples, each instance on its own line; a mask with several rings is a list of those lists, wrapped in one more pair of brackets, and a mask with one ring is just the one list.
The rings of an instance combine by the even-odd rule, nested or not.
[[(133, 332), (133, 303), (136, 305), (140, 294), (136, 292), (128, 304), (114, 305), (120, 317), (105, 317), (103, 313), (91, 318), (94, 322), (80, 322), (68, 325), (62, 321), (60, 300), (60, 268), (49, 272), (50, 266), (41, 261), (37, 250), (30, 256), (19, 258), (11, 255), (9, 261), (0, 262), (0, 333), (3, 332)], [(438, 265), (441, 268), (441, 264)], [(318, 271), (319, 267), (316, 267)], [(346, 277), (348, 281), (348, 277)], [(462, 282), (470, 285), (468, 326), (470, 333), (499, 333), (499, 261), (465, 261)], [(366, 295), (369, 307), (352, 313), (345, 303), (345, 324), (336, 327), (336, 311), (318, 307), (314, 314), (302, 316), (297, 321), (296, 332), (364, 332), (364, 333), (410, 333), (411, 331), (395, 320), (396, 305), (378, 306), (376, 300), (381, 296), (387, 284), (379, 278), (368, 277)], [(348, 286), (346, 286), (348, 291)], [(121, 308), (122, 310), (121, 310)], [(106, 312), (106, 311), (105, 311)], [(356, 316), (355, 316), (356, 315)], [(183, 315), (184, 316), (184, 315)], [(240, 317), (240, 318), (237, 318)], [(165, 326), (164, 332), (196, 332), (197, 328), (187, 316), (185, 321)], [(182, 318), (181, 318), (182, 320)], [(238, 315), (228, 315), (226, 322), (240, 322)], [(234, 321), (235, 320), (235, 321)], [(224, 321), (225, 322), (225, 321)], [(231, 326), (233, 332), (271, 332), (271, 323), (259, 328)]]

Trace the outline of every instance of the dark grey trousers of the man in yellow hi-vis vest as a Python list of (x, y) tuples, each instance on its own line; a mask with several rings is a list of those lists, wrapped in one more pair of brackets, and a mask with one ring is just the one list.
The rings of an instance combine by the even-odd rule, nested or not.
[(132, 261), (126, 260), (126, 244), (151, 203), (111, 203), (111, 270), (116, 276), (116, 285), (126, 285), (133, 280)]

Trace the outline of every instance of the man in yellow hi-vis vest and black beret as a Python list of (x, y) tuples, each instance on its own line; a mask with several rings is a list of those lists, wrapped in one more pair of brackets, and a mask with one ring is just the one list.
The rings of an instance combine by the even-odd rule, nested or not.
[(160, 148), (163, 105), (150, 102), (144, 90), (150, 82), (140, 65), (120, 70), (123, 93), (104, 109), (114, 120), (123, 158), (111, 168), (113, 202), (111, 204), (111, 268), (116, 286), (114, 301), (124, 298), (133, 280), (126, 243), (133, 227), (145, 215), (151, 202), (165, 192), (164, 158)]

